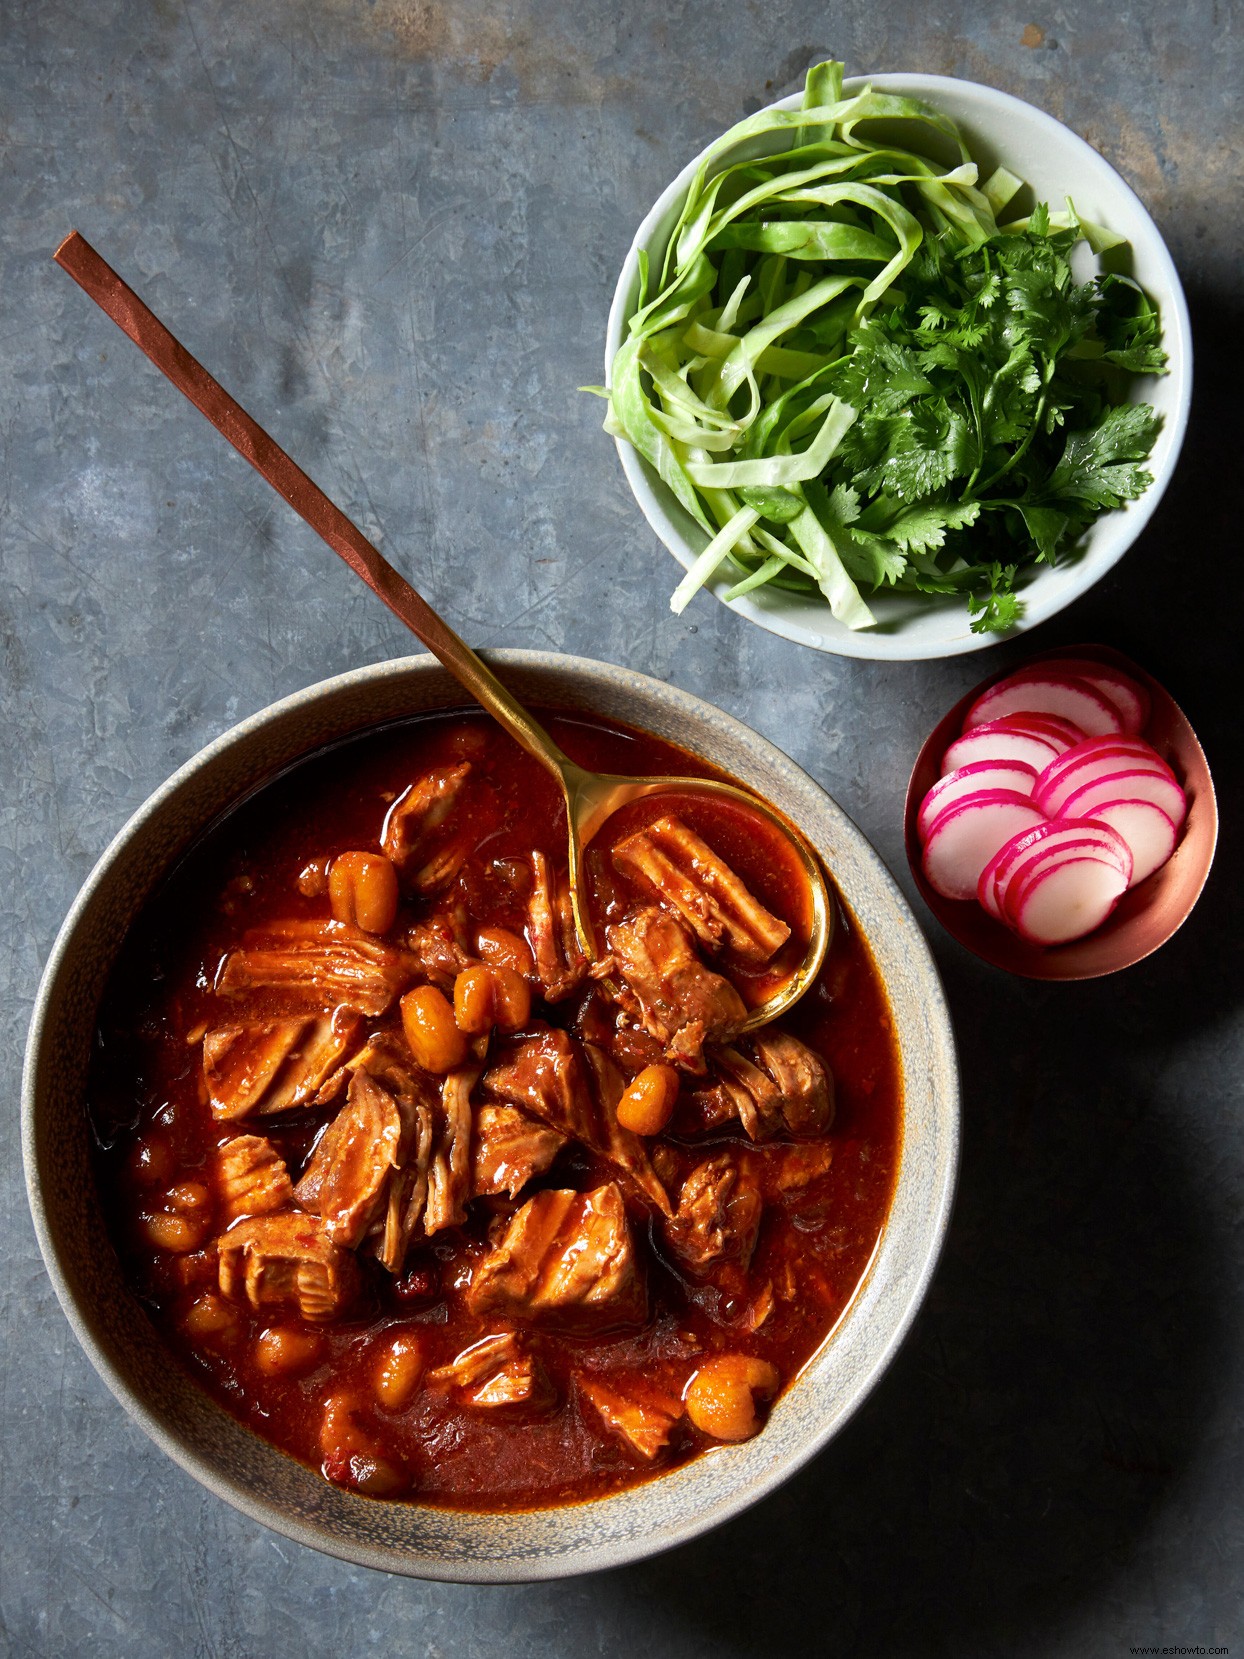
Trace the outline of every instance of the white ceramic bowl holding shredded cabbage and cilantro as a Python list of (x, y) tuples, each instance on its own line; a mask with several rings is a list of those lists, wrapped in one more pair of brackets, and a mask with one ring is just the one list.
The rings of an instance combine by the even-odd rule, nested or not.
[[(1023, 620), (1012, 634), (974, 634), (962, 597), (866, 594), (869, 609), (877, 617), (877, 625), (859, 632), (836, 622), (819, 597), (761, 589), (730, 606), (731, 611), (758, 622), (773, 634), (841, 657), (889, 660), (955, 657), (965, 650), (980, 650), (982, 645), (990, 645), (1000, 637), (1013, 637), (1017, 632), (1032, 629), (1055, 615), (1100, 581), (1111, 566), (1118, 564), (1148, 524), (1171, 479), (1188, 426), (1188, 408), (1193, 395), (1193, 337), (1188, 302), (1166, 244), (1136, 192), (1123, 182), (1108, 161), (1103, 161), (1062, 121), (1055, 121), (1053, 116), (1035, 109), (1020, 98), (1012, 98), (1010, 93), (947, 75), (856, 76), (846, 83), (846, 90), (859, 91), (864, 85), (922, 98), (952, 116), (964, 133), (972, 158), (980, 164), (982, 178), (987, 178), (995, 166), (1003, 164), (1032, 186), (1038, 201), (1048, 201), (1052, 207), (1060, 207), (1063, 197), (1070, 196), (1081, 217), (1108, 226), (1126, 237), (1131, 244), (1131, 274), (1161, 309), (1163, 343), (1169, 357), (1169, 373), (1138, 380), (1133, 393), (1138, 401), (1151, 403), (1163, 416), (1163, 430), (1148, 463), (1153, 484), (1138, 501), (1128, 503), (1120, 511), (1105, 513), (1085, 536), (1076, 557), (1055, 569), (1042, 567), (1023, 586)], [(798, 109), (799, 100), (801, 93), (793, 93), (773, 108)], [(768, 148), (776, 148), (776, 143), (778, 139), (773, 139)], [(750, 153), (761, 154), (765, 148), (753, 141)], [(746, 151), (740, 146), (731, 153), (731, 159), (743, 154)], [(700, 156), (690, 161), (678, 178), (662, 191), (635, 232), (609, 312), (605, 375), (609, 375), (614, 355), (625, 338), (627, 320), (635, 310), (639, 251), (645, 247), (652, 267), (660, 269), (665, 244), (700, 161)], [(629, 443), (619, 440), (617, 451), (644, 518), (673, 557), (683, 567), (690, 566), (707, 546), (708, 538)], [(708, 587), (722, 597), (733, 581), (736, 576), (722, 576)]]

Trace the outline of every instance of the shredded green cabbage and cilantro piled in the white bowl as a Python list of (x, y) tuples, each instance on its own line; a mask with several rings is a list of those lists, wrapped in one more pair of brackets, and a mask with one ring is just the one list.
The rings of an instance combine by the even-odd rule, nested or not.
[[(896, 118), (959, 161), (861, 131)], [(1126, 395), (1164, 370), (1158, 312), (1126, 277), (1076, 279), (1073, 249), (1118, 237), (1070, 202), (999, 226), (1018, 189), (979, 184), (927, 105), (844, 98), (841, 63), (713, 146), (655, 282), (640, 260), (607, 393), (607, 430), (708, 536), (675, 611), (728, 564), (726, 597), (775, 584), (867, 627), (864, 594), (960, 594), (1000, 632), (1025, 572), (1149, 486), (1159, 418)]]

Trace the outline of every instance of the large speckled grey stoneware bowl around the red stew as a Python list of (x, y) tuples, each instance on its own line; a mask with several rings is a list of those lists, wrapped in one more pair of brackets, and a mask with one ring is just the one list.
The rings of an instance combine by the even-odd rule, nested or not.
[(904, 1136), (877, 1253), (838, 1329), (768, 1427), (660, 1480), (590, 1503), (469, 1515), (327, 1485), (227, 1417), (176, 1364), (126, 1289), (95, 1196), (85, 1112), (96, 1007), (119, 941), (194, 836), (300, 757), (370, 725), (459, 707), (431, 657), (313, 685), (226, 732), (124, 826), (51, 952), (30, 1029), (23, 1151), (48, 1272), (83, 1347), (151, 1438), (267, 1526), (363, 1566), (420, 1578), (518, 1581), (619, 1566), (667, 1550), (771, 1491), (851, 1417), (906, 1334), (950, 1214), (959, 1145), (954, 1039), (929, 947), (849, 818), (780, 750), (687, 692), (625, 669), (539, 652), (489, 655), (532, 705), (592, 710), (693, 750), (786, 811), (824, 858), (886, 980), (902, 1052)]

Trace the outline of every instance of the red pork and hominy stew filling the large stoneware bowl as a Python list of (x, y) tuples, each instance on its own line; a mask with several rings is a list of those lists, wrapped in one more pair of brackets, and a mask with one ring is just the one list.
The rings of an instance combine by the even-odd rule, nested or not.
[[(587, 766), (713, 773), (547, 715)], [(660, 798), (589, 856), (554, 781), (449, 713), (317, 755), (148, 902), (90, 1113), (111, 1236), (219, 1404), (327, 1480), (506, 1510), (595, 1498), (761, 1430), (891, 1203), (886, 992), (756, 820)]]

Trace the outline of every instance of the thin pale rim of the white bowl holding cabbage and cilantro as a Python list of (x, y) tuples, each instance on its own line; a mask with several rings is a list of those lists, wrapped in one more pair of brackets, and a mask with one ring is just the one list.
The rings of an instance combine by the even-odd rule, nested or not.
[[(997, 86), (989, 86), (984, 81), (970, 81), (957, 75), (886, 71), (884, 75), (851, 75), (843, 83), (844, 91), (853, 93), (861, 91), (864, 86), (924, 96), (934, 105), (937, 103), (939, 93), (977, 96), (997, 106), (997, 109), (1003, 114), (1007, 111), (1013, 114), (1022, 113), (1025, 121), (1035, 121), (1052, 138), (1057, 138), (1060, 144), (1067, 146), (1081, 164), (1086, 164), (1091, 169), (1105, 169), (1105, 176), (1111, 181), (1111, 186), (1118, 189), (1144, 227), (1149, 244), (1148, 254), (1153, 255), (1153, 262), (1169, 285), (1169, 300), (1163, 305), (1163, 345), (1168, 352), (1174, 413), (1164, 421), (1163, 436), (1166, 438), (1166, 445), (1163, 466), (1154, 471), (1153, 483), (1143, 496), (1128, 503), (1123, 511), (1115, 509), (1115, 519), (1118, 523), (1118, 534), (1115, 538), (1116, 544), (1096, 551), (1091, 557), (1081, 557), (1076, 566), (1065, 567), (1073, 574), (1073, 581), (1068, 582), (1067, 591), (1060, 589), (1045, 599), (1038, 597), (1033, 601), (1032, 589), (1035, 584), (1030, 582), (1023, 594), (1023, 617), (1013, 629), (1008, 629), (1007, 634), (972, 634), (967, 625), (965, 611), (962, 632), (939, 644), (904, 639), (902, 624), (899, 624), (892, 634), (871, 629), (853, 632), (836, 622), (828, 614), (828, 607), (823, 612), (821, 607), (818, 607), (811, 599), (806, 602), (808, 622), (804, 625), (785, 614), (776, 614), (766, 609), (751, 594), (745, 594), (741, 599), (726, 602), (725, 592), (730, 584), (722, 577), (712, 579), (705, 584), (713, 597), (720, 604), (725, 604), (728, 611), (738, 612), (748, 622), (758, 624), (770, 634), (778, 634), (780, 637), (795, 640), (801, 645), (811, 645), (813, 650), (869, 662), (929, 662), (942, 657), (959, 657), (972, 650), (984, 650), (989, 645), (1020, 639), (1022, 634), (1030, 632), (1042, 622), (1047, 622), (1052, 615), (1057, 615), (1060, 611), (1075, 604), (1076, 599), (1081, 599), (1083, 594), (1086, 594), (1090, 587), (1106, 576), (1120, 562), (1123, 554), (1128, 552), (1141, 538), (1144, 528), (1156, 513), (1158, 504), (1166, 494), (1171, 478), (1174, 476), (1184, 436), (1188, 433), (1188, 420), (1193, 405), (1193, 327), (1188, 315), (1188, 299), (1179, 280), (1179, 272), (1148, 207), (1118, 173), (1118, 169), (1100, 151), (1093, 149), (1093, 146), (1073, 128), (1067, 126), (1067, 123), (1052, 116), (1038, 105), (1017, 98), (1013, 93), (1002, 91)], [(773, 103), (761, 106), (755, 111), (755, 114), (763, 114), (768, 109), (798, 109), (801, 100), (803, 91), (788, 93), (785, 98), (778, 98)], [(748, 119), (751, 119), (751, 116)], [(630, 290), (639, 277), (639, 252), (649, 246), (658, 231), (662, 217), (668, 212), (673, 202), (685, 194), (708, 149), (720, 143), (723, 136), (725, 134), (722, 133), (710, 139), (710, 143), (705, 144), (703, 149), (700, 149), (698, 154), (695, 154), (665, 186), (632, 237), (630, 247), (627, 249), (627, 255), (622, 262), (622, 270), (614, 287), (609, 320), (605, 324), (605, 385), (609, 385), (614, 357), (624, 340), (630, 312)], [(1131, 241), (1135, 246), (1136, 239), (1133, 237)], [(682, 564), (683, 569), (690, 569), (698, 549), (687, 544), (678, 523), (670, 513), (673, 498), (625, 438), (614, 438), (614, 446), (617, 450), (622, 471), (625, 473), (627, 484), (630, 486), (630, 493), (634, 494), (640, 513), (647, 519), (649, 528), (663, 542), (668, 552), (673, 554), (678, 564)], [(1101, 519), (1096, 523), (1101, 523)], [(944, 604), (931, 602), (924, 614), (934, 614), (934, 609), (937, 607), (942, 614), (950, 615), (952, 604), (955, 607), (959, 606), (959, 596), (947, 599)]]

